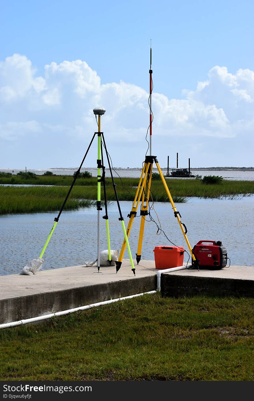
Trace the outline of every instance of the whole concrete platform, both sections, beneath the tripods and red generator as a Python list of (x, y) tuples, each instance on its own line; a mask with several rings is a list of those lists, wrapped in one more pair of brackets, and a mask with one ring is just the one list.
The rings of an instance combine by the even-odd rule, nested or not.
[[(72, 266), (35, 275), (0, 276), (0, 324), (69, 310), (157, 289), (154, 261), (142, 260), (132, 273), (130, 260), (116, 267)], [(163, 296), (254, 294), (254, 267), (184, 269), (161, 275)], [(243, 295), (245, 296), (245, 295)]]

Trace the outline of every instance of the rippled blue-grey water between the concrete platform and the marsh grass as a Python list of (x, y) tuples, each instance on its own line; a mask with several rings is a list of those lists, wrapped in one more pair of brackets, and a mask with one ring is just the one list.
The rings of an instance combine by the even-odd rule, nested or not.
[[(132, 202), (120, 202), (127, 227)], [(176, 203), (185, 223), (187, 237), (193, 247), (199, 240), (222, 241), (232, 265), (254, 266), (254, 196), (237, 200), (189, 198), (188, 203)], [(170, 203), (155, 203), (154, 209), (167, 237), (187, 249), (183, 234)], [(56, 213), (35, 213), (0, 216), (1, 266), (0, 275), (20, 273), (28, 261), (38, 257), (51, 231)], [(104, 215), (104, 210), (102, 215)], [(124, 238), (118, 221), (116, 202), (108, 206), (111, 249), (121, 249)], [(151, 215), (158, 223), (156, 214)], [(158, 223), (159, 224), (159, 223)], [(136, 258), (140, 217), (134, 219), (129, 237), (132, 257)], [(157, 227), (147, 222), (144, 232), (142, 259), (154, 259), (153, 249), (170, 245), (163, 233), (156, 235)], [(101, 250), (107, 249), (106, 223), (101, 219)], [(188, 250), (188, 249), (187, 249)], [(63, 212), (43, 255), (43, 270), (82, 265), (97, 255), (97, 210), (94, 207)], [(124, 257), (128, 258), (128, 251)], [(185, 252), (184, 261), (188, 260)], [(142, 260), (140, 261), (142, 264)], [(96, 269), (95, 269), (96, 271)], [(121, 270), (118, 272), (121, 279)], [(130, 272), (130, 274), (132, 274)]]

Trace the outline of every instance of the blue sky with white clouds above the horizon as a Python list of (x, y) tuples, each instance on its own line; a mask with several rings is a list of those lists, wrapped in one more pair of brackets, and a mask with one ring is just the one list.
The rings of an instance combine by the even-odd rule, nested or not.
[[(102, 118), (116, 167), (253, 166), (254, 2), (2, 1), (0, 168), (79, 166)], [(96, 146), (84, 166), (96, 166)]]

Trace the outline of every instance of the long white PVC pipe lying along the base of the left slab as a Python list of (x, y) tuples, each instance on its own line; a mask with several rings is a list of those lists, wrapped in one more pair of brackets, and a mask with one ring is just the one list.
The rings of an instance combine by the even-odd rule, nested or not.
[(154, 294), (155, 292), (156, 292), (155, 290), (154, 291), (148, 291), (148, 292), (142, 292), (141, 294), (135, 294), (135, 295), (130, 295), (128, 297), (116, 298), (114, 300), (109, 300), (109, 301), (97, 302), (96, 304), (79, 306), (78, 308), (63, 310), (61, 312), (55, 312), (55, 313), (51, 313), (49, 315), (43, 315), (43, 316), (37, 316), (35, 318), (30, 318), (30, 319), (18, 320), (17, 322), (4, 323), (4, 324), (0, 324), (0, 328), (6, 328), (6, 327), (12, 327), (12, 326), (20, 326), (21, 324), (39, 322), (39, 320), (50, 319), (53, 316), (67, 315), (68, 313), (77, 312), (78, 310), (91, 309), (91, 308), (94, 308), (95, 306), (112, 304), (113, 302), (127, 300), (127, 299), (134, 298), (134, 297), (139, 297), (139, 296), (144, 295), (144, 294)]

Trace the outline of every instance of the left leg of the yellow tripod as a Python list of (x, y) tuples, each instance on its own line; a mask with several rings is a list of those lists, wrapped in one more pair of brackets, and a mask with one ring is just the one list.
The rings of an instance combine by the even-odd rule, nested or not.
[[(136, 217), (136, 214), (137, 214), (138, 204), (140, 202), (140, 198), (141, 198), (141, 195), (142, 195), (142, 192), (143, 192), (143, 189), (144, 189), (144, 185), (146, 183), (146, 176), (147, 176), (147, 173), (148, 173), (149, 166), (150, 166), (150, 163), (144, 163), (144, 167), (142, 169), (142, 173), (141, 173), (140, 180), (139, 180), (139, 183), (138, 183), (138, 188), (136, 190), (135, 198), (134, 198), (134, 201), (133, 201), (132, 210), (128, 214), (128, 217), (130, 217), (130, 220), (129, 220), (129, 223), (128, 223), (128, 226), (127, 226), (127, 229), (126, 229), (127, 238), (130, 235), (130, 230), (131, 230), (131, 227), (132, 227), (132, 223), (133, 223), (134, 217)], [(144, 177), (143, 177), (143, 175), (144, 175)], [(122, 259), (124, 257), (125, 249), (126, 249), (126, 240), (124, 239), (123, 244), (122, 244), (122, 248), (121, 248), (121, 251), (120, 251), (120, 255), (118, 257), (118, 261), (120, 263), (122, 263)]]

